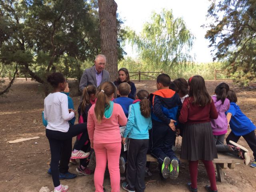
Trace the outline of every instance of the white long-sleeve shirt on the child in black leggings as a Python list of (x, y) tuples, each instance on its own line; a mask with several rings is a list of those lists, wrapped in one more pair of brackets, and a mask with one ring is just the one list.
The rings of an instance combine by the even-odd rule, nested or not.
[(44, 119), (48, 121), (46, 129), (68, 132), (68, 121), (74, 116), (74, 112), (68, 112), (68, 96), (66, 94), (50, 93), (44, 99)]

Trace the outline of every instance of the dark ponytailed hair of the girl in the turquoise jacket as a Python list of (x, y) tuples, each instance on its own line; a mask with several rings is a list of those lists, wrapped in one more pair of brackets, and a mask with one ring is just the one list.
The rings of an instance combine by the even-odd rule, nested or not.
[(148, 118), (151, 114), (149, 93), (146, 90), (139, 90), (137, 93), (138, 99), (140, 99), (140, 112), (142, 116)]

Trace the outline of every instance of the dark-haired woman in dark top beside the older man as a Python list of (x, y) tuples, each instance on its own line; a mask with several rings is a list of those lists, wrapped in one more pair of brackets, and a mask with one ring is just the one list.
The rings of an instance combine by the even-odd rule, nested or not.
[(118, 70), (118, 78), (114, 81), (114, 84), (118, 88), (123, 82), (126, 82), (131, 86), (131, 92), (129, 93), (128, 98), (135, 99), (136, 87), (134, 83), (130, 81), (130, 75), (126, 68), (120, 68)]

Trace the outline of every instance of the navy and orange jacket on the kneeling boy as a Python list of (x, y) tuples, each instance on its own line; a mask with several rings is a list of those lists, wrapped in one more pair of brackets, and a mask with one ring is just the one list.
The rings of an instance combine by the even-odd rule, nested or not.
[(153, 122), (170, 124), (171, 119), (178, 124), (182, 102), (180, 96), (171, 89), (160, 89), (150, 94), (151, 118)]

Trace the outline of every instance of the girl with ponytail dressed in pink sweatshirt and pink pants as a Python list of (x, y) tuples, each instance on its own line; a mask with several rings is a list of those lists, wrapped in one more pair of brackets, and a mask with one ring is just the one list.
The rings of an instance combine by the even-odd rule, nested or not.
[(96, 155), (94, 185), (96, 192), (104, 191), (103, 180), (106, 163), (110, 173), (112, 192), (120, 192), (119, 157), (121, 152), (120, 126), (125, 126), (127, 118), (122, 107), (112, 102), (115, 85), (101, 84), (96, 104), (88, 112), (88, 134), (91, 147)]

